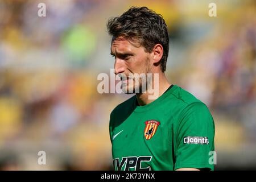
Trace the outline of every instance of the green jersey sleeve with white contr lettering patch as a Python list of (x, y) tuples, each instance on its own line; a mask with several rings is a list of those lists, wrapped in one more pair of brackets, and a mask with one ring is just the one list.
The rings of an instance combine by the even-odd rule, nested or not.
[(214, 169), (214, 121), (203, 102), (194, 102), (181, 112), (176, 127), (175, 166)]

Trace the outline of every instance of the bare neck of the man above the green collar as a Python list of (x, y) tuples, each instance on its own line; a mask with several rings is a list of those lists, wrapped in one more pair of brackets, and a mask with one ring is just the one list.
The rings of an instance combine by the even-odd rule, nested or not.
[[(149, 96), (152, 95), (152, 93), (148, 93), (148, 90), (146, 93), (138, 93), (136, 94), (138, 105), (143, 106), (150, 104), (151, 102), (155, 101), (157, 98), (162, 96), (164, 92), (171, 86), (170, 82), (168, 82), (166, 76), (164, 73), (159, 74), (159, 85), (158, 85), (158, 97), (155, 99), (149, 99)], [(152, 81), (152, 88), (157, 89), (154, 85), (154, 81)], [(156, 91), (156, 90), (155, 90)]]

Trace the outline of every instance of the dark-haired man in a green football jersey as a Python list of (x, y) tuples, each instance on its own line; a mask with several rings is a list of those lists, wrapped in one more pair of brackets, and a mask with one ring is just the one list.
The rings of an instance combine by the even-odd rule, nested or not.
[[(203, 102), (167, 80), (169, 36), (162, 16), (131, 7), (107, 27), (122, 90), (136, 93), (110, 114), (115, 170), (213, 170), (213, 118)], [(153, 77), (136, 82), (135, 73)], [(144, 85), (154, 87), (158, 97), (149, 99)]]

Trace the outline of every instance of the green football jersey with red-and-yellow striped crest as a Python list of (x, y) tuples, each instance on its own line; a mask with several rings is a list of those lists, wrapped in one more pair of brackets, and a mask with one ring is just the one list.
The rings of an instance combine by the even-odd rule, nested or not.
[(136, 96), (110, 114), (115, 170), (208, 168), (214, 121), (203, 102), (177, 85), (144, 106)]

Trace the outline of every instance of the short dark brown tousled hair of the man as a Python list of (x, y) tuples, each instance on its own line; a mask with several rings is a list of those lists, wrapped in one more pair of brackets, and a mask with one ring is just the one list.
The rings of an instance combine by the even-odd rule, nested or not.
[(160, 66), (162, 72), (166, 71), (169, 35), (162, 15), (156, 14), (147, 7), (131, 7), (121, 16), (110, 18), (107, 28), (109, 34), (115, 38), (123, 36), (130, 40), (137, 39), (147, 52), (151, 52), (155, 44), (161, 44), (163, 56)]

